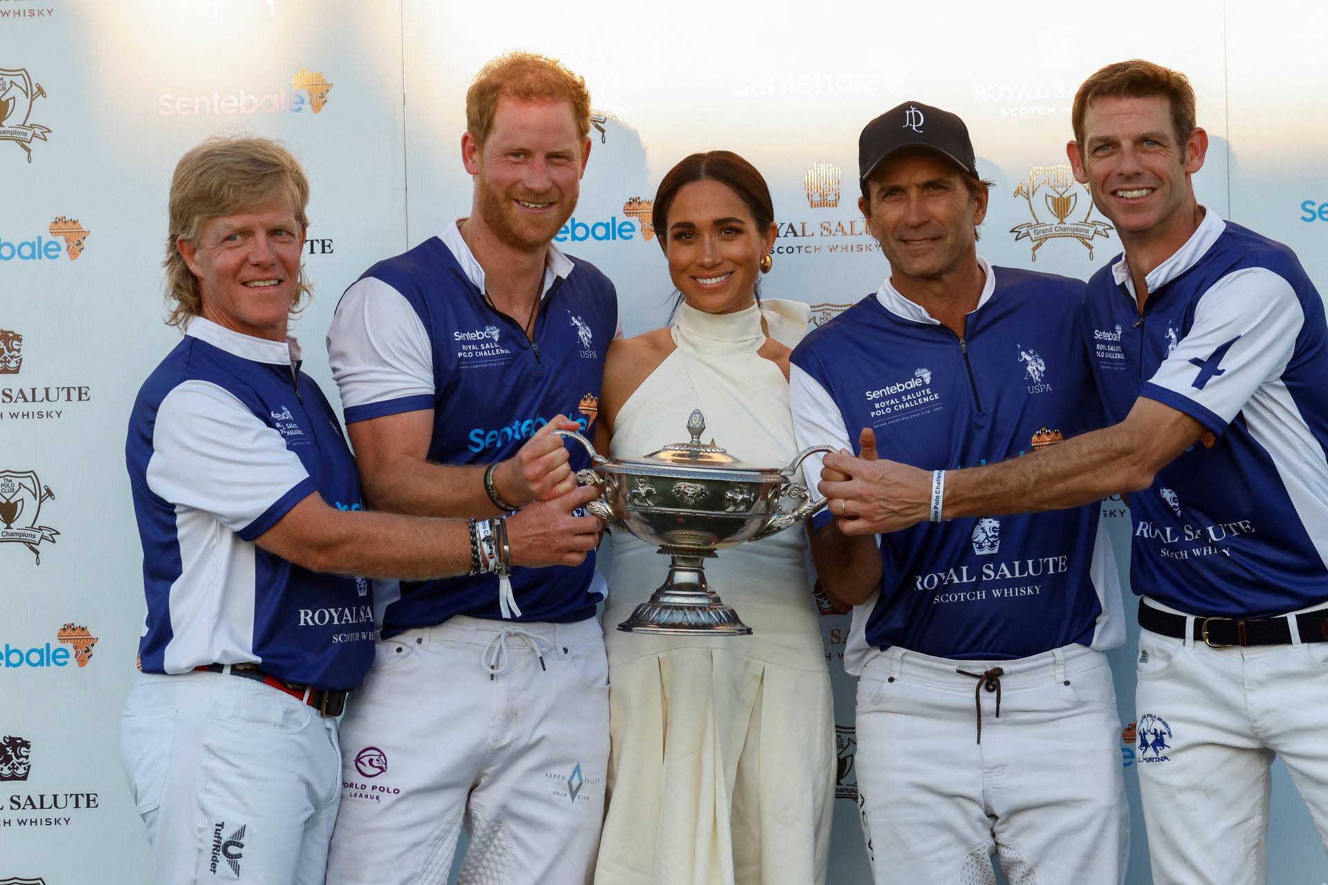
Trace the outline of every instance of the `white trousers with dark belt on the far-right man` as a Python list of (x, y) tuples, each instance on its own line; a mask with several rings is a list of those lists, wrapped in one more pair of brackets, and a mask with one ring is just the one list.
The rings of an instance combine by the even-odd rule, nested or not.
[(1328, 644), (1139, 633), (1138, 770), (1157, 885), (1263, 885), (1282, 756), (1328, 847)]

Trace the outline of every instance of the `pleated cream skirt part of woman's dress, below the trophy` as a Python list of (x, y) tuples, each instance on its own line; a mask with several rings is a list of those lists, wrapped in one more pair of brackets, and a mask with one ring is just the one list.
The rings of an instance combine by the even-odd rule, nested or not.
[(825, 882), (829, 673), (680, 647), (611, 666), (610, 686), (596, 885)]

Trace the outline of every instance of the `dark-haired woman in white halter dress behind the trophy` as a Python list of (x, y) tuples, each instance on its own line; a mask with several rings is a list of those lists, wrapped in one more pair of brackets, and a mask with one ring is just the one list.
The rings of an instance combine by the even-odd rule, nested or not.
[[(790, 463), (789, 353), (809, 309), (757, 300), (776, 238), (765, 179), (729, 151), (693, 154), (660, 183), (653, 222), (681, 293), (677, 321), (610, 346), (596, 447), (639, 458), (684, 441), (701, 409), (706, 439), (730, 455)], [(834, 718), (806, 545), (795, 527), (706, 561), (752, 636), (641, 636), (614, 628), (663, 582), (668, 560), (614, 532), (596, 885), (825, 882)]]

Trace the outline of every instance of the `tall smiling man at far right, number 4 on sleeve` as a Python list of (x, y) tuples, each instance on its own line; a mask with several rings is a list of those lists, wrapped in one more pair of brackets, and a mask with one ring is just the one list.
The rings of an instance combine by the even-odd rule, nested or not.
[[(1183, 74), (1108, 65), (1074, 97), (1076, 178), (1123, 256), (1089, 283), (1108, 419), (934, 478), (831, 455), (845, 532), (1127, 491), (1139, 602), (1139, 784), (1158, 882), (1263, 882), (1280, 755), (1328, 844), (1328, 328), (1286, 245), (1201, 206), (1208, 137)], [(930, 504), (932, 484), (942, 500)]]

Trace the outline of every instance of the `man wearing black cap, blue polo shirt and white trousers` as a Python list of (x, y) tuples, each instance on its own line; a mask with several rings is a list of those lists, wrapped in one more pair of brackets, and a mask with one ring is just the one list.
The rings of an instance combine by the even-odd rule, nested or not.
[[(1101, 425), (1077, 280), (977, 255), (987, 182), (963, 121), (904, 102), (859, 138), (880, 289), (793, 353), (799, 446), (935, 471)], [(850, 429), (853, 431), (850, 433)], [(843, 479), (803, 462), (809, 482)], [(940, 500), (943, 487), (934, 490)], [(1123, 640), (1096, 504), (846, 536), (814, 520), (821, 581), (854, 604), (858, 788), (876, 881), (1106, 885), (1125, 872), (1121, 723), (1105, 649)], [(878, 548), (879, 544), (879, 548)]]

